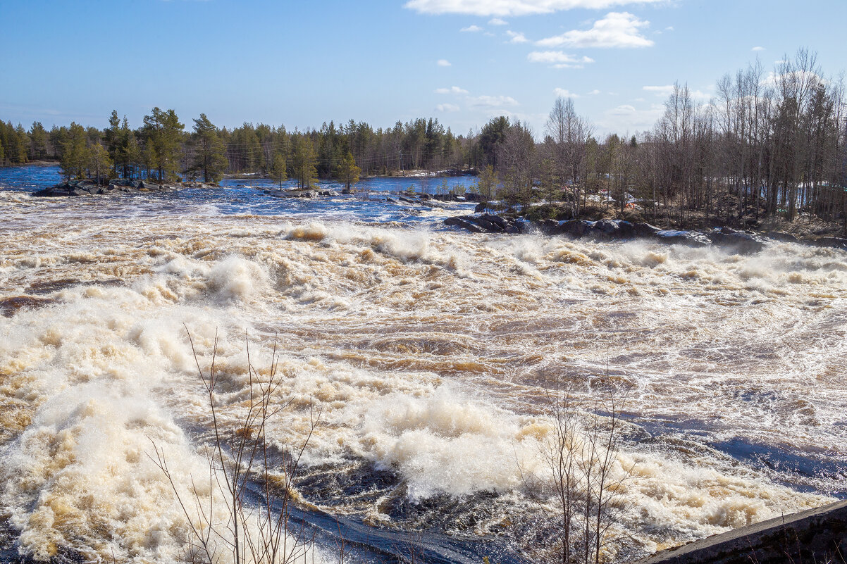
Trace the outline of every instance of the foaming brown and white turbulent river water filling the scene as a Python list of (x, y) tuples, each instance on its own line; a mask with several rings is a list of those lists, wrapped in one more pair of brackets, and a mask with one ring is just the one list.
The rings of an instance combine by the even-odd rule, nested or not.
[[(349, 519), (363, 545), (363, 528), (419, 530), (476, 561), (489, 545), (520, 561), (510, 523), (534, 511), (522, 473), (544, 472), (546, 392), (589, 409), (599, 380), (630, 390), (617, 461), (632, 468), (630, 555), (845, 496), (843, 251), (472, 235), (440, 222), (469, 204), (292, 202), (258, 180), (27, 193), (54, 179), (0, 171), (7, 555), (179, 555), (184, 517), (147, 455), (158, 445), (179, 479), (206, 472), (185, 328), (204, 366), (219, 335), (224, 426), (249, 392), (246, 335), (259, 366), (277, 335), (276, 401), (291, 403), (268, 437), (296, 445), (320, 412), (300, 511)], [(334, 550), (318, 540), (320, 557)]]

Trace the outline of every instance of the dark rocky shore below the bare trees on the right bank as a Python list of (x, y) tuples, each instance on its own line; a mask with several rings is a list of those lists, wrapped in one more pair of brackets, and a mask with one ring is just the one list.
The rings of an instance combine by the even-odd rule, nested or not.
[(783, 231), (754, 232), (729, 227), (716, 227), (705, 231), (661, 229), (656, 225), (631, 223), (623, 219), (598, 221), (545, 219), (540, 222), (531, 222), (524, 218), (501, 217), (495, 213), (473, 213), (446, 218), (444, 224), (467, 229), (472, 233), (529, 233), (537, 230), (545, 235), (564, 235), (574, 239), (594, 241), (645, 239), (669, 245), (719, 246), (740, 254), (760, 252), (767, 243), (773, 241), (802, 242), (847, 251), (847, 239), (840, 237), (800, 239)]

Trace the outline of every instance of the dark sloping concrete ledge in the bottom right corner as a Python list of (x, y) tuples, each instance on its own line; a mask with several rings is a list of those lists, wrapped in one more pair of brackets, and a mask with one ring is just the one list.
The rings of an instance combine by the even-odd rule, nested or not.
[(847, 501), (737, 528), (662, 550), (638, 564), (841, 564), (847, 562)]

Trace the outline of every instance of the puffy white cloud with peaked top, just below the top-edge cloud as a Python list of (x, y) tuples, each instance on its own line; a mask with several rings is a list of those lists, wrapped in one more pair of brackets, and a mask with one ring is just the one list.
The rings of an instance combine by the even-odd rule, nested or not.
[(628, 12), (609, 12), (605, 18), (596, 20), (590, 30), (566, 31), (561, 36), (535, 41), (535, 44), (540, 47), (651, 47), (653, 41), (641, 31), (648, 25), (649, 21)]

